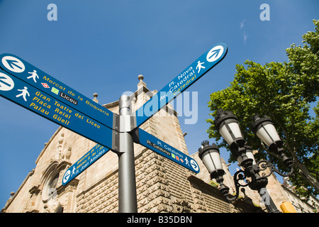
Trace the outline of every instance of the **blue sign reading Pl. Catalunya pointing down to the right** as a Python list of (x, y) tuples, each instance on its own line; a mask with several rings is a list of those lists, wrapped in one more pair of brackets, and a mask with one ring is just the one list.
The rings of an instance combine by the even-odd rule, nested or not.
[(177, 164), (185, 167), (188, 170), (191, 170), (195, 173), (199, 172), (199, 166), (197, 162), (192, 157), (189, 157), (189, 155), (182, 153), (176, 148), (173, 148), (171, 145), (165, 143), (162, 140), (159, 140), (154, 135), (145, 132), (141, 128), (137, 129), (136, 134), (136, 143), (140, 143), (146, 148), (155, 151), (159, 155), (167, 157), (169, 160), (176, 162)]

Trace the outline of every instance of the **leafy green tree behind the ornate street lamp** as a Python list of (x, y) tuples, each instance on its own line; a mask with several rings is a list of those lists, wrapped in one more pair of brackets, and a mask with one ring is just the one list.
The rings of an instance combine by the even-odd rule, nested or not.
[[(315, 31), (303, 35), (304, 45), (286, 49), (289, 62), (270, 62), (260, 65), (245, 61), (236, 65), (230, 87), (211, 94), (210, 115), (218, 109), (232, 111), (237, 116), (242, 134), (252, 148), (259, 150), (257, 160), (267, 158), (285, 171), (278, 155), (270, 153), (250, 128), (252, 116), (267, 115), (284, 141), (284, 149), (294, 160), (290, 177), (296, 192), (302, 196), (319, 194), (319, 21), (313, 20)], [(317, 102), (315, 117), (310, 116), (310, 104)], [(228, 148), (215, 130), (213, 119), (209, 137), (216, 138), (220, 147)], [(230, 162), (235, 162), (230, 157)]]

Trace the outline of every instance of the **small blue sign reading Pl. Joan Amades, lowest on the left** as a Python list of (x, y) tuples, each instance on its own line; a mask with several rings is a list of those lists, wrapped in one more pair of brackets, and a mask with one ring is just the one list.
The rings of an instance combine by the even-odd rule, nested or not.
[(80, 173), (86, 170), (87, 167), (92, 165), (96, 160), (105, 155), (108, 152), (107, 148), (102, 145), (96, 144), (91, 150), (83, 155), (77, 162), (67, 169), (65, 175), (62, 178), (62, 184), (69, 183), (74, 177), (77, 177)]

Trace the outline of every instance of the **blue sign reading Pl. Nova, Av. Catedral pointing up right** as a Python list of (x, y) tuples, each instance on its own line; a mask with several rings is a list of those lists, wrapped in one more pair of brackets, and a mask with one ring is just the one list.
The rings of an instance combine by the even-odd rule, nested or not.
[(201, 57), (193, 62), (189, 67), (186, 67), (177, 77), (172, 79), (165, 87), (163, 87), (155, 96), (147, 101), (143, 106), (135, 111), (136, 127), (139, 127), (147, 121), (153, 114), (156, 114), (159, 109), (168, 104), (169, 101), (176, 98), (181, 92), (194, 84), (206, 72), (211, 70), (225, 57), (228, 51), (225, 43), (217, 43)]

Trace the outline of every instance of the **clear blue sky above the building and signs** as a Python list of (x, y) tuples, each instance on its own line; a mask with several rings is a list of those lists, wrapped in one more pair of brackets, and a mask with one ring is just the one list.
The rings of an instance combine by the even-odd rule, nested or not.
[[(47, 20), (51, 3), (57, 21)], [(264, 3), (270, 21), (259, 18)], [(107, 104), (135, 92), (139, 74), (150, 90), (162, 89), (212, 45), (226, 43), (225, 59), (188, 89), (198, 92), (198, 121), (180, 123), (192, 154), (208, 140), (209, 95), (229, 86), (235, 64), (284, 62), (285, 49), (313, 31), (318, 11), (318, 0), (0, 0), (0, 53), (18, 55), (92, 99), (96, 92)], [(0, 110), (3, 208), (58, 126), (2, 97)], [(226, 150), (221, 155), (228, 160)]]

